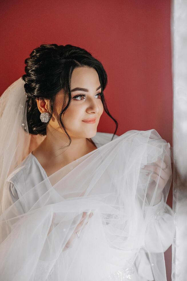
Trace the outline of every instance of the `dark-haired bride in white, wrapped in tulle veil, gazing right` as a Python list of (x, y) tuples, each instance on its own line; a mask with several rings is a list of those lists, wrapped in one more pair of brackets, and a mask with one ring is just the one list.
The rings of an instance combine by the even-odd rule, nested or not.
[[(169, 143), (115, 134), (86, 50), (43, 44), (25, 64), (0, 97), (2, 280), (166, 281)], [(104, 110), (114, 134), (97, 132)]]

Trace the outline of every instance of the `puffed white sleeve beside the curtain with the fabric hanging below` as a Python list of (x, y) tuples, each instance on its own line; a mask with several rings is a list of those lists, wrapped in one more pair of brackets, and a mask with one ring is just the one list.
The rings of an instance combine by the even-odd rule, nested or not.
[(174, 220), (172, 209), (162, 200), (149, 208), (149, 223), (146, 228), (144, 245), (140, 249), (135, 266), (141, 280), (154, 280), (148, 252), (165, 252), (174, 237)]

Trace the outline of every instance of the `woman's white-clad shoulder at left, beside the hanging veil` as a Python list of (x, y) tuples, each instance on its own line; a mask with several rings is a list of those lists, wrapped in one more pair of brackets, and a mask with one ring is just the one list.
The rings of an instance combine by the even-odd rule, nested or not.
[(16, 187), (19, 197), (29, 189), (45, 179), (42, 167), (37, 163), (34, 155), (27, 157), (12, 171), (6, 181)]

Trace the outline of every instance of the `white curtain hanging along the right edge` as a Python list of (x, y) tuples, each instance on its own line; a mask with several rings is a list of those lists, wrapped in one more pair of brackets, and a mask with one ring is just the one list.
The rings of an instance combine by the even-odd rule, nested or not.
[(173, 122), (173, 210), (176, 235), (172, 245), (172, 281), (187, 280), (187, 1), (173, 0), (171, 10)]

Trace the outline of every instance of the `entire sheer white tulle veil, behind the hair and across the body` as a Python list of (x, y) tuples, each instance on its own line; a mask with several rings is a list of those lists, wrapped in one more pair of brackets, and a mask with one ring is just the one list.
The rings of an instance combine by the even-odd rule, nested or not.
[[(97, 149), (25, 187), (18, 175), (43, 137), (28, 133), (21, 78), (0, 101), (2, 200), (6, 182), (15, 175), (22, 190), (0, 216), (2, 280), (166, 281), (164, 251), (174, 235), (166, 204), (172, 175), (158, 202), (158, 184), (141, 169), (158, 159), (171, 169), (170, 148), (158, 132), (131, 130), (112, 141), (112, 134), (101, 133)], [(83, 212), (93, 215), (69, 245)]]

